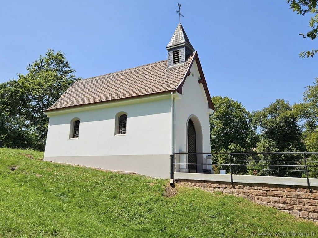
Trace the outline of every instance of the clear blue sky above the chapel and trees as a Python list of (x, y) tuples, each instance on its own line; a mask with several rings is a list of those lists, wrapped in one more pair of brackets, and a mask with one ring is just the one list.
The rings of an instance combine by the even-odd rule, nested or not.
[(167, 58), (181, 23), (197, 50), (211, 96), (228, 96), (249, 111), (277, 98), (299, 102), (318, 77), (317, 49), (303, 39), (309, 16), (284, 0), (2, 1), (0, 83), (17, 79), (47, 49), (62, 50), (82, 78)]

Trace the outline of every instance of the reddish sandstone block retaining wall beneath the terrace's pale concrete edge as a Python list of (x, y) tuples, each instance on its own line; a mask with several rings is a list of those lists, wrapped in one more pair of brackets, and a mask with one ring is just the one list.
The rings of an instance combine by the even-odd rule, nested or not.
[(288, 212), (296, 217), (318, 221), (318, 187), (309, 190), (304, 186), (269, 185), (256, 183), (226, 183), (211, 181), (176, 180), (189, 183), (207, 191), (219, 191), (225, 194), (249, 199), (261, 205), (270, 206)]

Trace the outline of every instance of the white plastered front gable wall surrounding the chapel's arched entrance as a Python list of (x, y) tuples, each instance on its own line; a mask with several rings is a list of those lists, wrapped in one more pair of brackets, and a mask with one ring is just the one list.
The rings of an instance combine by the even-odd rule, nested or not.
[[(189, 117), (194, 115), (200, 121), (203, 140), (203, 148), (197, 148), (197, 152), (210, 153), (210, 122), (208, 113), (210, 109), (208, 109), (208, 101), (203, 85), (202, 83), (198, 83), (200, 75), (195, 62), (193, 63), (190, 71), (191, 74), (187, 76), (183, 84), (181, 98), (175, 99), (176, 134), (174, 148), (176, 153), (179, 151), (187, 151), (187, 122)], [(198, 134), (196, 123), (194, 123), (194, 125)], [(197, 163), (199, 162), (206, 163), (205, 155), (197, 155)], [(206, 168), (206, 166), (198, 166), (197, 172), (202, 173), (203, 168)]]

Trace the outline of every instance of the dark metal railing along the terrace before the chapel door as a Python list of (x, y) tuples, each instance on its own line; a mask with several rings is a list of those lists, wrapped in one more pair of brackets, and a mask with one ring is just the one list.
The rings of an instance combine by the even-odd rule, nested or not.
[[(177, 163), (175, 161), (175, 158), (176, 158), (175, 155), (193, 155), (193, 154), (202, 155), (202, 156), (211, 155), (212, 158), (215, 160), (213, 161), (212, 159), (212, 164), (210, 163), (181, 163), (181, 162)], [(228, 156), (228, 159), (226, 159), (226, 157), (224, 158), (224, 160), (225, 161), (227, 160), (228, 163), (218, 163), (216, 161), (216, 159), (218, 158), (215, 158), (215, 157), (218, 157), (220, 155), (225, 155), (226, 157)], [(273, 159), (263, 158), (264, 156), (273, 158), (279, 155), (286, 157), (286, 159), (273, 160)], [(242, 156), (246, 156), (248, 158), (241, 159)], [(308, 160), (308, 157), (309, 157), (309, 160)], [(314, 157), (313, 158), (314, 160), (311, 157)], [(229, 168), (230, 176), (231, 176), (231, 184), (233, 184), (232, 175), (238, 174), (238, 172), (239, 174), (242, 174), (243, 171), (248, 172), (249, 170), (253, 170), (254, 175), (259, 174), (258, 171), (261, 171), (260, 174), (263, 173), (265, 176), (274, 176), (273, 175), (274, 171), (276, 171), (278, 176), (283, 176), (283, 177), (302, 177), (303, 175), (305, 175), (307, 179), (308, 188), (310, 189), (308, 173), (317, 173), (316, 175), (313, 175), (313, 176), (314, 177), (318, 176), (318, 152), (273, 152), (273, 153), (186, 153), (186, 152), (180, 152), (180, 153), (174, 153), (170, 155), (170, 165), (171, 165), (171, 171), (170, 171), (171, 179), (173, 179), (174, 167), (176, 165), (185, 165), (186, 168), (188, 168), (189, 165), (196, 165), (196, 166), (210, 165), (210, 166), (216, 166), (218, 168), (225, 168), (225, 167)], [(255, 169), (255, 167), (257, 169)], [(264, 173), (262, 171), (267, 171), (267, 172)], [(294, 176), (294, 175), (298, 175), (298, 176)]]

